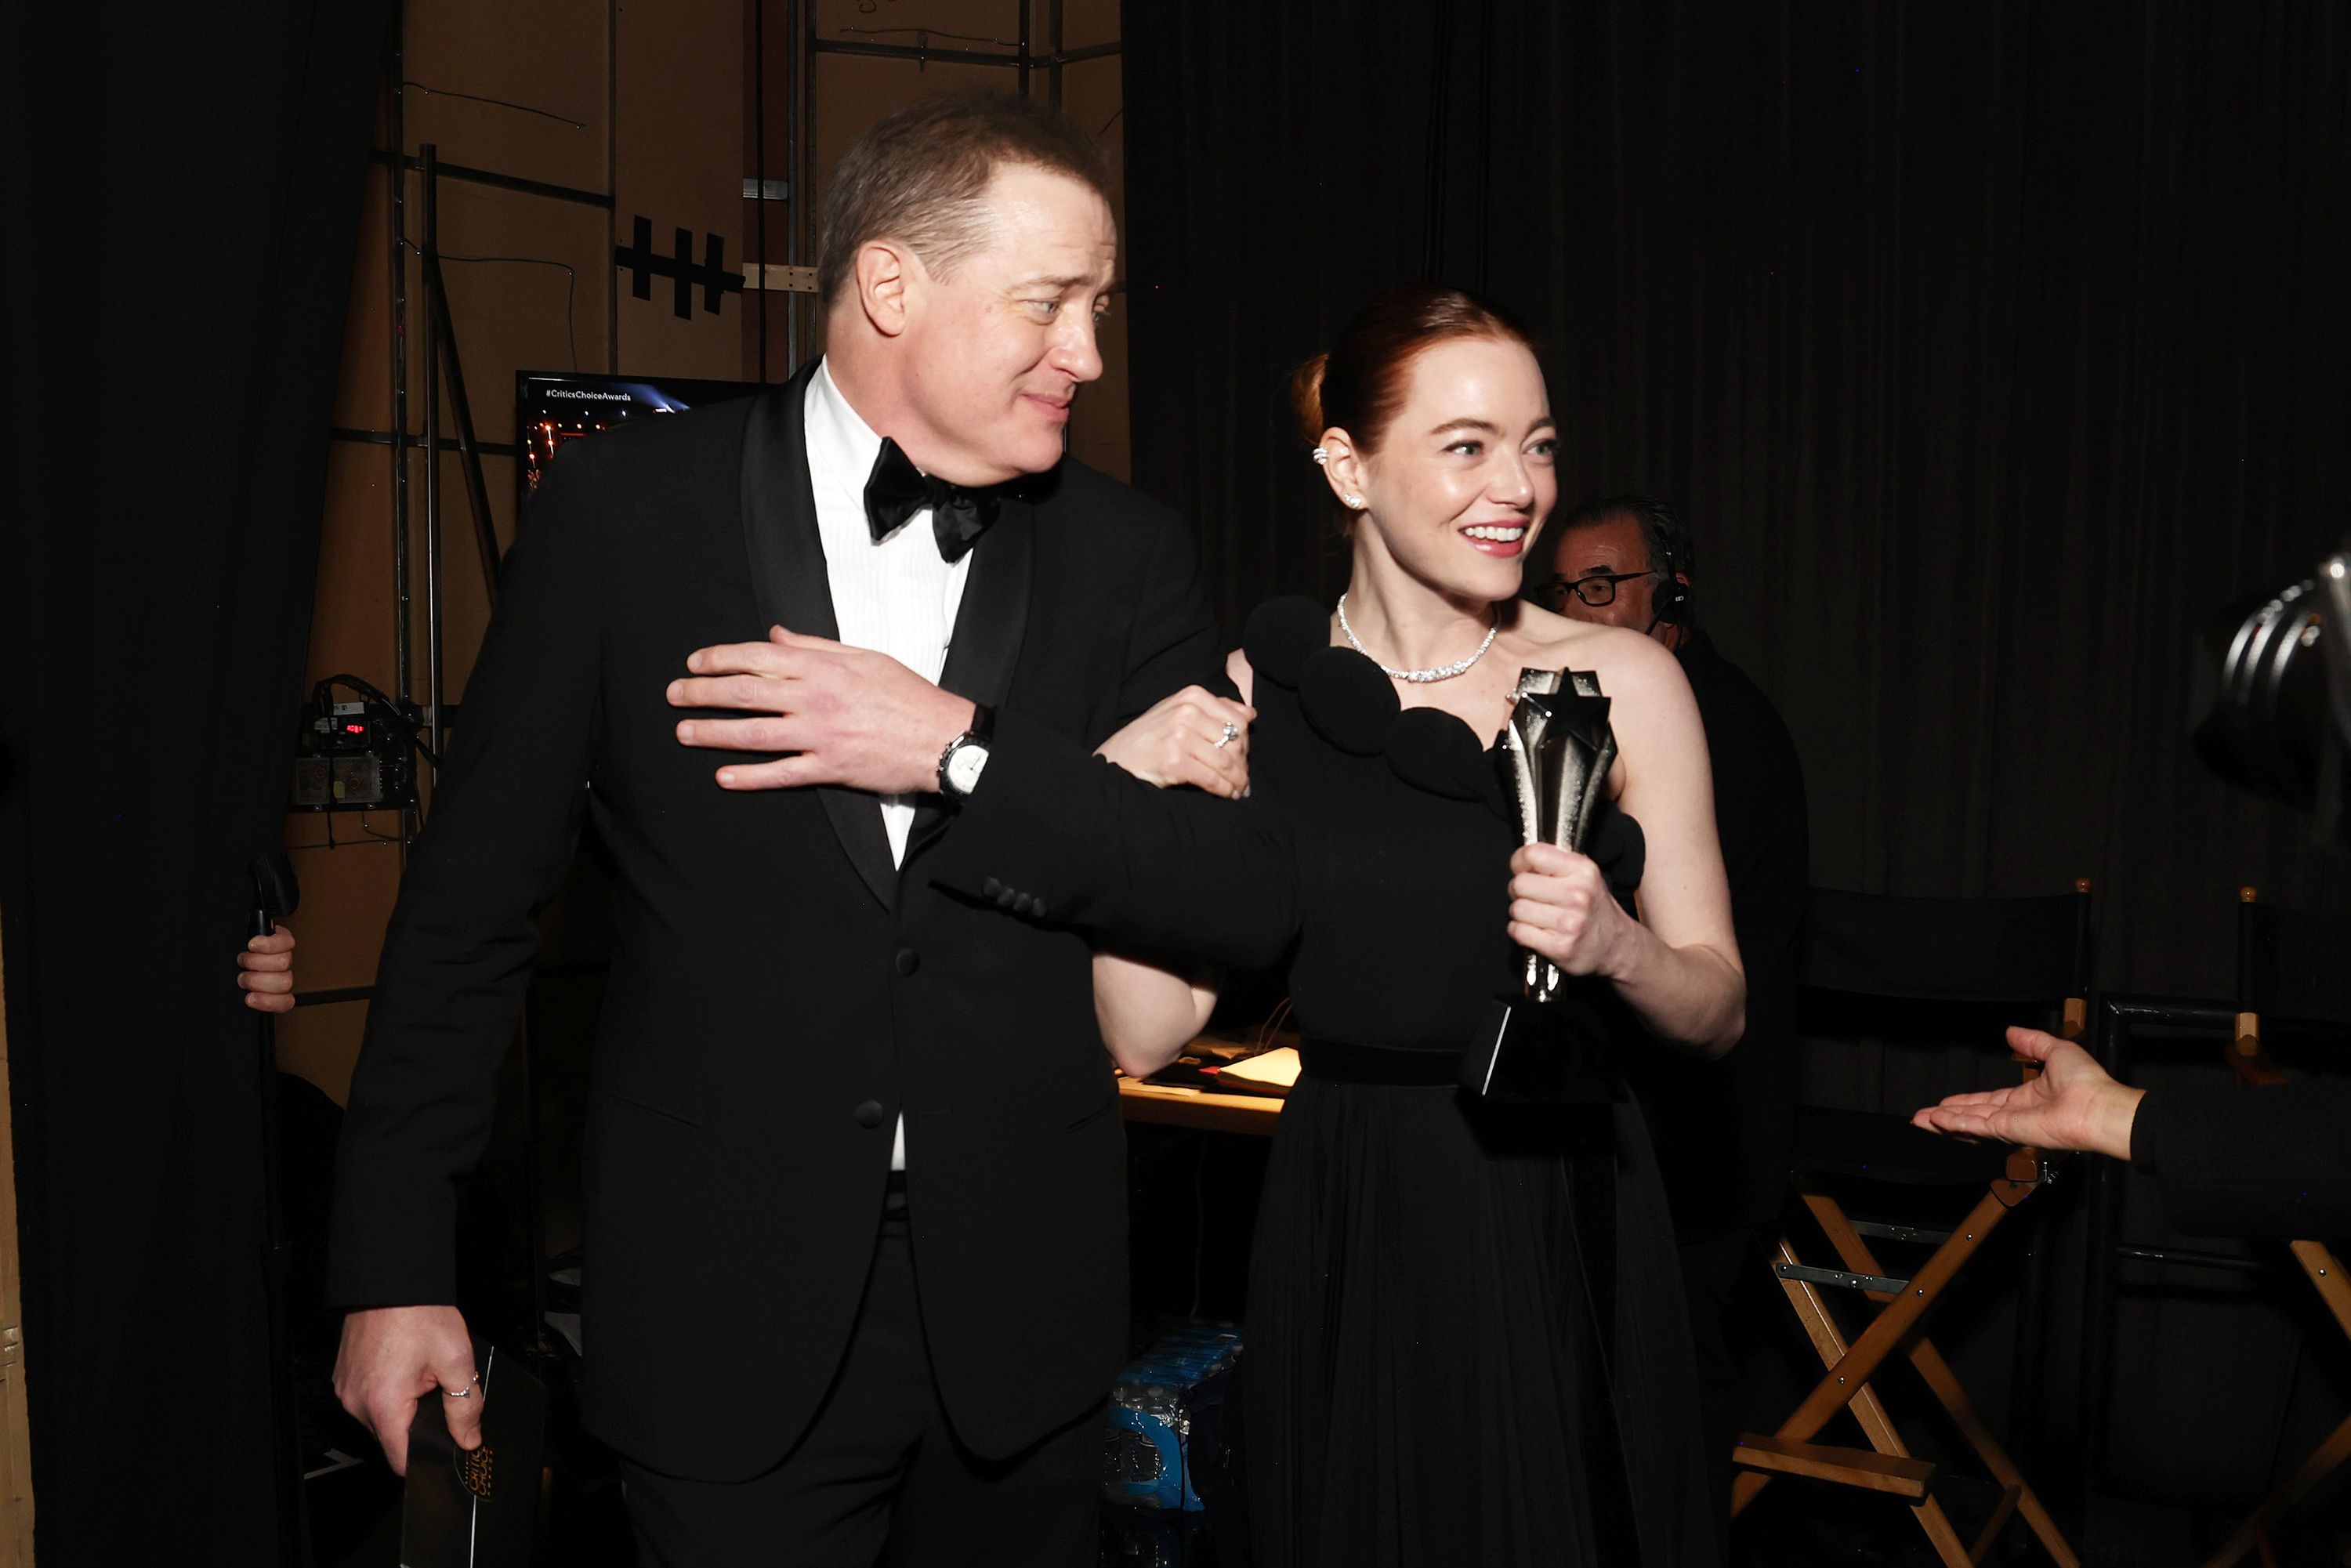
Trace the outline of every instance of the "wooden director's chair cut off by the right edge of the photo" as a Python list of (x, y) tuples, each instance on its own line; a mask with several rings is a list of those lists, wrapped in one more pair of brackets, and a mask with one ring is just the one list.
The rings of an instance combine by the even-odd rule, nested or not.
[[(2285, 1084), (2285, 1072), (2262, 1048), (2262, 1018), (2330, 1032), (2351, 1030), (2351, 922), (2280, 910), (2262, 903), (2252, 889), (2238, 889), (2236, 1009), (2229, 1065), (2238, 1084), (2255, 1088)], [(2335, 1324), (2351, 1335), (2351, 1281), (2344, 1281), (2335, 1248), (2325, 1241), (2288, 1246), (2318, 1286), (2318, 1298), (2335, 1314)], [(2222, 1549), (2205, 1559), (2205, 1568), (2226, 1568), (2255, 1547), (2264, 1563), (2276, 1563), (2269, 1526), (2318, 1490), (2344, 1462), (2351, 1462), (2351, 1418), (2262, 1497)]]

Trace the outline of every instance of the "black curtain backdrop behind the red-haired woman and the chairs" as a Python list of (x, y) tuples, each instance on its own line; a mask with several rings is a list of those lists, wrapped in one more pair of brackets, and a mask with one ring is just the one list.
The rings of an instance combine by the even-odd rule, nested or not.
[(1136, 477), (1227, 630), (1335, 597), (1284, 383), (1387, 282), (1545, 343), (1561, 498), (1650, 489), (1806, 757), (1813, 877), (2097, 882), (2217, 992), (2342, 867), (2186, 748), (2191, 635), (2351, 524), (2351, 14), (1128, 5)]

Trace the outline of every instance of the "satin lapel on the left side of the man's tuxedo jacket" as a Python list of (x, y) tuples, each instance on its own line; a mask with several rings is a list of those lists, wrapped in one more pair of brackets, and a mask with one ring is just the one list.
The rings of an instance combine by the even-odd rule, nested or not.
[[(802, 428), (809, 378), (806, 367), (773, 393), (759, 397), (743, 442), (743, 550), (750, 557), (750, 585), (759, 602), (762, 625), (839, 637), (832, 616), (832, 578), (825, 574), (825, 545), (816, 534), (816, 491), (809, 487), (809, 440)], [(971, 562), (978, 569), (978, 559)], [(889, 832), (882, 827), (882, 802), (858, 790), (816, 788), (825, 804), (842, 853), (858, 877), (882, 900), (898, 903), (898, 867), (889, 858)]]

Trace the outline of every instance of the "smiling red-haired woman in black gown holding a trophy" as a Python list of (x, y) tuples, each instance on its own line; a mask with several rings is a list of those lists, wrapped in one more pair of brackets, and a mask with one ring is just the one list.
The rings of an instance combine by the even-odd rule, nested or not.
[[(1639, 1107), (1500, 1112), (1453, 1086), (1521, 945), (1613, 992), (1617, 1048), (1737, 1039), (1697, 712), (1655, 642), (1514, 597), (1556, 480), (1542, 374), (1507, 317), (1448, 289), (1380, 296), (1300, 371), (1298, 404), (1347, 522), (1347, 595), (1251, 616), (1230, 668), (1253, 708), (1183, 693), (1103, 750), (1232, 792), (1246, 726), (1239, 811), (1281, 849), (1258, 870), (1279, 896), (1232, 889), (1293, 926), (1307, 1041), (1251, 1260), (1258, 1561), (1714, 1561)], [(1610, 795), (1641, 823), (1601, 835), (1615, 865), (1516, 844), (1486, 741), (1521, 668), (1594, 670), (1613, 698)], [(1213, 1001), (1110, 954), (1096, 994), (1128, 1072)]]

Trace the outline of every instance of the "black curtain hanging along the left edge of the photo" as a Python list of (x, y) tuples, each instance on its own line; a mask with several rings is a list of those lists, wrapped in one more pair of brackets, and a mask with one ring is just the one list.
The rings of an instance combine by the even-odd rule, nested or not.
[(261, 1074), (388, 0), (12, 5), (0, 940), (45, 1566), (275, 1554)]

